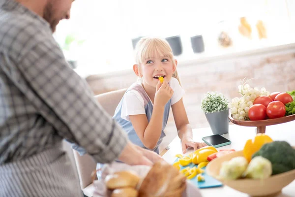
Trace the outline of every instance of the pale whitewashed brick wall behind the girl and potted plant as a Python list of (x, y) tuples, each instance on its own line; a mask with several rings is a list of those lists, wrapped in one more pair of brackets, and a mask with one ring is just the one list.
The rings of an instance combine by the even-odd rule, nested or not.
[[(229, 100), (239, 97), (237, 86), (244, 77), (253, 78), (251, 87), (265, 87), (269, 92), (295, 89), (295, 47), (284, 50), (252, 53), (227, 58), (195, 60), (177, 67), (182, 87), (186, 91), (184, 104), (193, 128), (208, 127), (200, 106), (208, 91), (223, 93)], [(132, 69), (104, 76), (89, 76), (87, 81), (95, 94), (127, 88), (137, 76)], [(166, 146), (177, 134), (173, 116), (166, 128)]]

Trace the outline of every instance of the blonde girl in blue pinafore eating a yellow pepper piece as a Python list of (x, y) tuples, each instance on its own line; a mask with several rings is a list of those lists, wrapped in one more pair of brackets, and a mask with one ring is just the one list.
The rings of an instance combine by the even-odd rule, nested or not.
[(168, 42), (157, 37), (142, 38), (135, 48), (135, 60), (133, 70), (140, 80), (128, 88), (113, 117), (129, 139), (159, 154), (171, 107), (183, 153), (188, 147), (196, 150), (206, 146), (192, 139), (182, 101), (184, 90), (177, 76), (177, 60)]

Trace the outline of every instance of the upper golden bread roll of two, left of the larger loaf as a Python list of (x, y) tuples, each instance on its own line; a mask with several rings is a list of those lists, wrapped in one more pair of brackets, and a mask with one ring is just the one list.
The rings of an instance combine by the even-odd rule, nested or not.
[(132, 171), (120, 171), (107, 175), (105, 183), (110, 190), (123, 187), (135, 188), (139, 179), (140, 178)]

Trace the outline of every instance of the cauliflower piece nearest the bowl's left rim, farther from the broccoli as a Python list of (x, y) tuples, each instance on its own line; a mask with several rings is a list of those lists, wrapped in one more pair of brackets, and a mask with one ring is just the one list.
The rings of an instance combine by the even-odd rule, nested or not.
[(220, 168), (219, 177), (224, 180), (235, 180), (242, 176), (248, 166), (244, 157), (235, 157), (228, 162), (223, 162)]

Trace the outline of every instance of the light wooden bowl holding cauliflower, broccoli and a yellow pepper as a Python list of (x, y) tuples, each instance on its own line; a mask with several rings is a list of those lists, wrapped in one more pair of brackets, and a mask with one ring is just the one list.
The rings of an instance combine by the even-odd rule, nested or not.
[(206, 172), (209, 176), (214, 177), (239, 192), (246, 193), (253, 197), (274, 197), (281, 192), (281, 190), (295, 180), (295, 169), (281, 174), (273, 175), (264, 180), (255, 179), (237, 179), (237, 180), (220, 180), (218, 175), (221, 164), (229, 161), (234, 157), (243, 156), (243, 151), (236, 151), (234, 153), (216, 158), (209, 162), (206, 167)]

